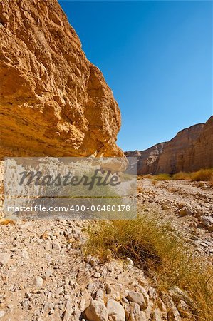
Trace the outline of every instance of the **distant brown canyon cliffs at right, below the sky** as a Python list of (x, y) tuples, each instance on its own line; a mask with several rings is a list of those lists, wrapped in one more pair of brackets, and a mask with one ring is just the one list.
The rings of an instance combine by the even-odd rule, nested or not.
[(185, 128), (166, 143), (145, 151), (125, 152), (137, 156), (137, 174), (191, 172), (213, 167), (213, 116), (207, 123)]

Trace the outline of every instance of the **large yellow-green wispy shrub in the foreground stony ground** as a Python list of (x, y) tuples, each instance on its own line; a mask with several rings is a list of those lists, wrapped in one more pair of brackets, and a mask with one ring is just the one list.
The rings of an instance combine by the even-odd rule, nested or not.
[(137, 220), (102, 221), (88, 233), (88, 253), (102, 260), (109, 255), (131, 258), (155, 280), (159, 291), (173, 286), (185, 290), (193, 302), (194, 320), (212, 321), (212, 267), (195, 257), (169, 223), (162, 225), (156, 216), (143, 215)]

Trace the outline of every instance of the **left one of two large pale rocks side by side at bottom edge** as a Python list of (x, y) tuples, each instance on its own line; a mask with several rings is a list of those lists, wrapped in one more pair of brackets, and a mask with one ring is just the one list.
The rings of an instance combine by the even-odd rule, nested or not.
[(108, 320), (108, 310), (103, 302), (91, 300), (85, 310), (85, 317), (88, 321), (106, 321)]

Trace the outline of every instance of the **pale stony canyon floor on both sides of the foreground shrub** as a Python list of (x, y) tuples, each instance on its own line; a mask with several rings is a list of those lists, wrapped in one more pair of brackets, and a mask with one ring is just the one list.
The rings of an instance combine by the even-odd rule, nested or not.
[[(212, 250), (208, 183), (138, 181), (138, 204), (172, 218), (194, 249)], [(157, 294), (155, 283), (127, 258), (100, 263), (85, 255), (85, 226), (94, 222), (17, 220), (0, 225), (0, 318), (42, 320), (190, 320), (189, 297), (178, 288)]]

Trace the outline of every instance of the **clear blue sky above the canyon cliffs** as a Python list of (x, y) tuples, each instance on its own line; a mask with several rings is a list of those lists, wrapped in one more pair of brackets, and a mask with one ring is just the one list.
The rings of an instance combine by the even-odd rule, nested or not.
[(143, 150), (212, 115), (212, 1), (59, 1)]

